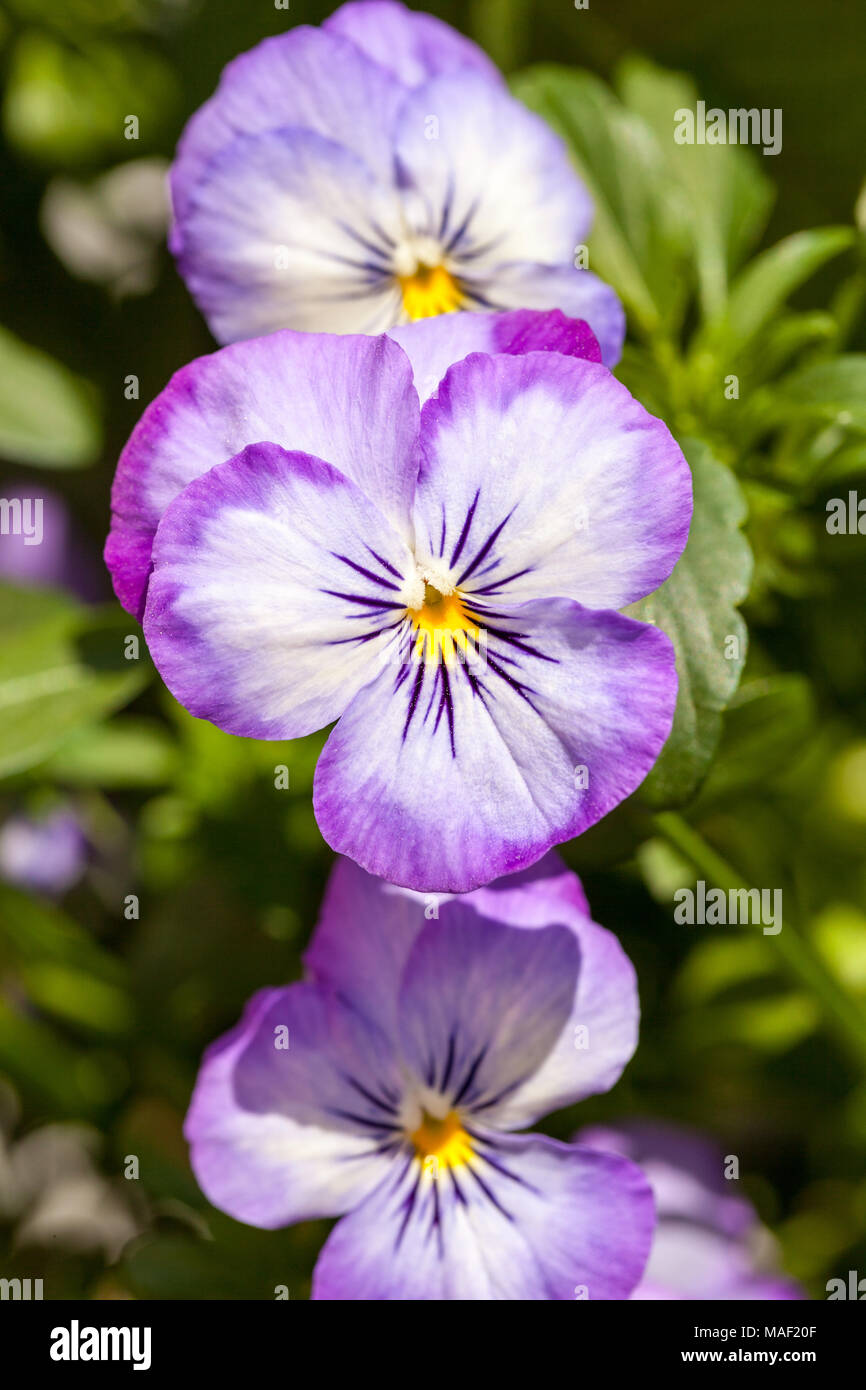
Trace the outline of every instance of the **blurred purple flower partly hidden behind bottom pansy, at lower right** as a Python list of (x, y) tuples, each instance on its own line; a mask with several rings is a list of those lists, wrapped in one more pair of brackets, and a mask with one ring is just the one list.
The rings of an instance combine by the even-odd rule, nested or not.
[(716, 1143), (652, 1120), (585, 1129), (575, 1143), (634, 1159), (652, 1184), (657, 1226), (632, 1298), (806, 1297), (777, 1273), (773, 1240), (752, 1204), (724, 1177), (724, 1154)]

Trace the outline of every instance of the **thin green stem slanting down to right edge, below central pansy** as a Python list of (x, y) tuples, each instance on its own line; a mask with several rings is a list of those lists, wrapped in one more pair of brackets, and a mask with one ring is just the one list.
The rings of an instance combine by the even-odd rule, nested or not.
[[(712, 845), (708, 845), (702, 835), (681, 816), (666, 810), (656, 815), (653, 820), (662, 838), (684, 855), (708, 883), (724, 892), (730, 892), (731, 888), (746, 888), (737, 870), (721, 855), (716, 853)], [(785, 916), (783, 930), (773, 937), (773, 945), (791, 979), (819, 1001), (828, 1027), (859, 1063), (866, 1063), (866, 1011), (840, 986), (809, 937)]]

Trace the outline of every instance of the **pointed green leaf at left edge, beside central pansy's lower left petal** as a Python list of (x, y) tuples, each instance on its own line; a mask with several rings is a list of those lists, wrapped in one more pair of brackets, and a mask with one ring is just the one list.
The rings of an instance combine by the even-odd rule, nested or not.
[(128, 626), (117, 609), (0, 585), (0, 777), (43, 762), (138, 695), (149, 666), (124, 659)]

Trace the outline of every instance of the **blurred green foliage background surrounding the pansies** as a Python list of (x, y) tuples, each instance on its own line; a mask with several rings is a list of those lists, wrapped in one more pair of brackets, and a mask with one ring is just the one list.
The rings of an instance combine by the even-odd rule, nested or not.
[[(866, 1268), (866, 539), (826, 527), (828, 499), (866, 495), (856, 7), (817, 31), (805, 0), (432, 8), (569, 140), (596, 203), (591, 265), (628, 310), (619, 374), (695, 477), (687, 556), (639, 606), (677, 645), (674, 733), (645, 787), (564, 848), (637, 965), (641, 1045), (610, 1095), (549, 1129), (653, 1113), (717, 1134), (822, 1297)], [(46, 193), (170, 158), (224, 63), (285, 18), (11, 0), (0, 21), (0, 457), (15, 478), (51, 468), (95, 550), (143, 404), (213, 345), (156, 242), (147, 293), (78, 278), (46, 239)], [(763, 43), (773, 24), (791, 42)], [(698, 96), (784, 107), (783, 154), (674, 145), (671, 113)], [(181, 1125), (203, 1048), (299, 972), (331, 858), (310, 808), (322, 738), (254, 744), (193, 720), (143, 648), (126, 659), (138, 628), (111, 602), (6, 585), (0, 628), (0, 821), (61, 801), (90, 847), (61, 902), (0, 887), (0, 1170), (22, 1137), (50, 1147), (51, 1126), (83, 1122), (95, 1193), (83, 1233), (21, 1240), (38, 1195), (0, 1184), (3, 1275), (44, 1277), (46, 1297), (306, 1297), (325, 1226), (214, 1212)], [(783, 888), (783, 933), (677, 926), (673, 894), (695, 877)]]

